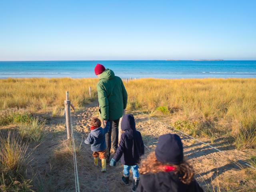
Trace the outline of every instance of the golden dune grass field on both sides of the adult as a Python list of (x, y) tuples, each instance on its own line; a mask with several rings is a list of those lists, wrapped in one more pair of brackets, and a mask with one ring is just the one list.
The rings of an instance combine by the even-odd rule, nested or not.
[[(0, 110), (24, 108), (57, 116), (63, 111), (66, 90), (80, 108), (90, 100), (89, 86), (97, 98), (97, 82), (96, 78), (0, 80)], [(193, 136), (230, 136), (238, 149), (256, 147), (256, 79), (138, 79), (124, 84), (130, 111), (169, 117), (170, 125)]]

